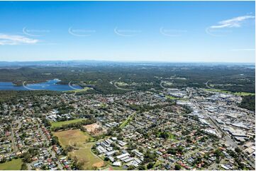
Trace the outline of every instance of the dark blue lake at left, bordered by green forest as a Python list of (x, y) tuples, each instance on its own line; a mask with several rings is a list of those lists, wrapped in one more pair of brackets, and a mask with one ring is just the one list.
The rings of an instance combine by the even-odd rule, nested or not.
[(0, 90), (54, 90), (54, 91), (66, 91), (66, 90), (74, 90), (82, 89), (82, 87), (77, 85), (64, 85), (64, 84), (57, 84), (60, 82), (59, 79), (53, 79), (46, 81), (44, 83), (32, 83), (27, 84), (25, 86), (15, 86), (11, 82), (0, 82)]

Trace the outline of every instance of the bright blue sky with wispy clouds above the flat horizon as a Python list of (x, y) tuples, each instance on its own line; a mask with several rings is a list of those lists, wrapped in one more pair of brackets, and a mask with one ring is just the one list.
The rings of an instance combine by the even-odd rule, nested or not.
[(255, 63), (255, 1), (0, 1), (0, 61)]

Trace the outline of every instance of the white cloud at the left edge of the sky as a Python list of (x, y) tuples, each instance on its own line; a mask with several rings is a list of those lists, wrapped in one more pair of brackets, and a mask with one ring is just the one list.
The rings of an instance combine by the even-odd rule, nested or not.
[(4, 35), (0, 34), (0, 45), (21, 45), (35, 44), (39, 40), (30, 39), (21, 35)]

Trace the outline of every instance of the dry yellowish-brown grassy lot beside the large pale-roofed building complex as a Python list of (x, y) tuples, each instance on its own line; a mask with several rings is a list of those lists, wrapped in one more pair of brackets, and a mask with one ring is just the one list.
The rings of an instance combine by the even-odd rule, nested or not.
[(54, 135), (59, 138), (62, 146), (66, 147), (69, 145), (78, 148), (68, 154), (72, 157), (76, 156), (79, 162), (84, 163), (84, 170), (94, 170), (94, 167), (102, 167), (104, 165), (104, 161), (91, 152), (91, 146), (93, 146), (94, 142), (87, 142), (92, 137), (86, 132), (74, 129), (55, 132)]

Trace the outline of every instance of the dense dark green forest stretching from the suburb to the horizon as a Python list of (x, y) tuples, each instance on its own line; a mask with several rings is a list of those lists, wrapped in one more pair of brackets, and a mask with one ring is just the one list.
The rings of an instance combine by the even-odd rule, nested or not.
[[(61, 84), (70, 81), (82, 87), (91, 87), (89, 93), (124, 93), (116, 88), (115, 81), (125, 83), (127, 90), (162, 89), (161, 81), (171, 84), (165, 87), (199, 87), (229, 90), (231, 92), (255, 93), (254, 66), (196, 65), (196, 64), (120, 64), (102, 66), (26, 66), (0, 69), (0, 82), (10, 81), (16, 85), (44, 82), (59, 78)], [(87, 92), (88, 93), (88, 92)]]

